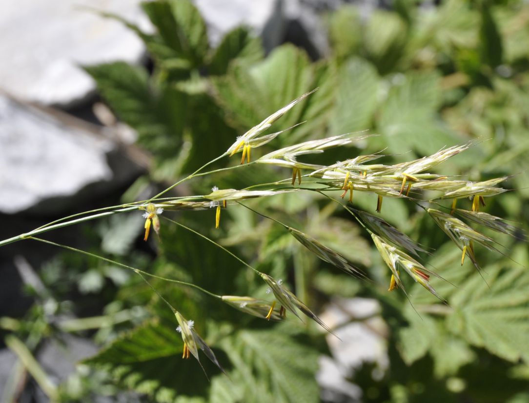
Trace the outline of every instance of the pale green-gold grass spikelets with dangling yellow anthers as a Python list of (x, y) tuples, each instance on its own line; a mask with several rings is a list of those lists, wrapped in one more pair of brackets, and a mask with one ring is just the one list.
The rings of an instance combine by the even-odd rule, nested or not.
[[(417, 204), (418, 201), (428, 201), (440, 206), (439, 208), (444, 208), (440, 204), (442, 199), (452, 199), (451, 208), (446, 208), (447, 213), (435, 208), (425, 208), (422, 205), (421, 207), (427, 210), (427, 213), (433, 218), (435, 223), (439, 225), (441, 230), (462, 251), (461, 264), (463, 264), (464, 258), (467, 256), (478, 270), (479, 264), (476, 259), (475, 246), (481, 245), (490, 250), (497, 250), (496, 242), (490, 237), (474, 230), (468, 224), (461, 221), (461, 219), (455, 218), (454, 214), (457, 214), (468, 222), (488, 227), (494, 231), (509, 235), (515, 234), (517, 229), (505, 223), (501, 218), (479, 212), (480, 205), (485, 205), (486, 197), (495, 196), (506, 191), (506, 189), (497, 187), (497, 185), (505, 181), (507, 177), (471, 182), (428, 172), (454, 155), (467, 150), (472, 145), (471, 143), (444, 148), (428, 157), (394, 165), (373, 163), (372, 161), (384, 156), (380, 153), (357, 155), (354, 158), (338, 161), (330, 166), (298, 161), (298, 157), (302, 155), (322, 153), (326, 149), (352, 145), (371, 136), (361, 133), (347, 133), (322, 140), (311, 140), (291, 145), (272, 151), (252, 161), (251, 155), (253, 149), (267, 144), (284, 131), (266, 135), (263, 135), (263, 132), (269, 129), (275, 121), (311, 93), (304, 94), (293, 100), (276, 113), (267, 117), (257, 126), (252, 127), (248, 132), (237, 138), (222, 155), (231, 157), (236, 153), (242, 152), (241, 164), (248, 162), (289, 168), (292, 170), (291, 181), (290, 179), (286, 179), (286, 183), (281, 185), (280, 188), (276, 187), (269, 190), (236, 190), (218, 189), (214, 187), (212, 193), (208, 195), (179, 198), (178, 200), (163, 201), (162, 203), (157, 203), (156, 200), (153, 200), (151, 203), (139, 207), (145, 210), (145, 240), (147, 240), (149, 235), (151, 222), (154, 230), (157, 233), (159, 232), (160, 224), (158, 216), (165, 210), (203, 210), (214, 208), (216, 210), (215, 227), (218, 228), (220, 225), (221, 210), (223, 208), (227, 208), (227, 206), (233, 204), (241, 204), (241, 201), (249, 198), (268, 197), (287, 192), (301, 191), (295, 187), (295, 182), (297, 180), (298, 185), (302, 184), (302, 177), (304, 177), (306, 178), (305, 180), (312, 182), (312, 184), (320, 186), (314, 187), (313, 185), (312, 188), (305, 190), (317, 191), (342, 204), (370, 234), (373, 243), (390, 270), (389, 290), (400, 288), (406, 292), (400, 277), (401, 271), (404, 271), (414, 281), (442, 300), (442, 297), (437, 294), (430, 284), (431, 276), (437, 275), (431, 270), (426, 269), (418, 261), (419, 253), (427, 252), (407, 235), (388, 224), (379, 216), (353, 208), (354, 191), (376, 194), (378, 197), (375, 210), (378, 213), (381, 211), (384, 197), (405, 198)], [(287, 188), (288, 181), (291, 184), (290, 188)], [(436, 197), (430, 200), (421, 200), (420, 197), (425, 190), (435, 192)], [(336, 191), (340, 192), (342, 199), (348, 195), (347, 201), (349, 201), (349, 204), (330, 196)], [(472, 199), (471, 210), (456, 208), (456, 201), (461, 198)], [(275, 219), (274, 221), (278, 222)], [(280, 222), (278, 223), (284, 226), (285, 230), (290, 232), (299, 243), (304, 245), (321, 260), (334, 265), (336, 268), (352, 276), (366, 278), (358, 268), (354, 267), (351, 262), (338, 252), (327, 248), (327, 246), (324, 246), (311, 236), (295, 228), (291, 228)], [(273, 279), (268, 274), (259, 272), (250, 265), (248, 267), (254, 270), (267, 283), (269, 291), (273, 293), (275, 300), (268, 301), (249, 296), (218, 296), (224, 303), (244, 313), (267, 320), (284, 319), (287, 311), (299, 318), (298, 312), (301, 312), (331, 332), (331, 329), (320, 318), (282, 285), (281, 280)], [(209, 359), (222, 369), (211, 349), (207, 347), (202, 338), (193, 330), (193, 321), (186, 321), (179, 313), (176, 313), (176, 317), (179, 323), (178, 331), (181, 333), (185, 345), (183, 356), (187, 358), (189, 353), (191, 353), (198, 360), (197, 348), (200, 348)]]

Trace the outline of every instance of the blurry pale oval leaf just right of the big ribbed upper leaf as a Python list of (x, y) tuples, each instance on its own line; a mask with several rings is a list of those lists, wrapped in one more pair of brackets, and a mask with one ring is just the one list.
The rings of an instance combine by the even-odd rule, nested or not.
[(378, 103), (379, 78), (367, 61), (352, 58), (341, 67), (330, 131), (341, 134), (371, 127)]

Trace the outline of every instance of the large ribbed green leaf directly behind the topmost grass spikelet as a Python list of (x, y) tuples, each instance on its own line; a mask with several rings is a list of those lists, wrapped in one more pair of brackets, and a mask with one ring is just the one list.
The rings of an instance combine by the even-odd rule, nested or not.
[[(245, 132), (267, 116), (278, 111), (300, 95), (323, 86), (304, 99), (274, 124), (274, 129), (287, 129), (296, 123), (308, 122), (277, 138), (281, 144), (291, 144), (325, 123), (332, 98), (330, 69), (312, 66), (305, 52), (283, 45), (269, 57), (250, 68), (245, 63), (233, 63), (224, 77), (212, 80), (215, 100), (225, 110), (230, 123)], [(313, 121), (314, 120), (314, 121)]]

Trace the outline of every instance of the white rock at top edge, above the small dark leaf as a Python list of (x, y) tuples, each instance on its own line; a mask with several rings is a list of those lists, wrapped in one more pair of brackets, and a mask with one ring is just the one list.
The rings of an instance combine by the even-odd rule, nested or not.
[(281, 0), (194, 0), (194, 4), (206, 21), (213, 46), (239, 25), (261, 36), (268, 51), (283, 38), (286, 22)]

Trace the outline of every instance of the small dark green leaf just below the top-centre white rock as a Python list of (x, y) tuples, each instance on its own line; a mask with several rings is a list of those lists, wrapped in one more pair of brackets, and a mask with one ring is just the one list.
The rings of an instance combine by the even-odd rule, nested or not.
[(238, 59), (252, 63), (263, 57), (259, 38), (253, 36), (248, 28), (240, 26), (228, 32), (215, 49), (208, 71), (211, 75), (226, 74), (230, 63)]

